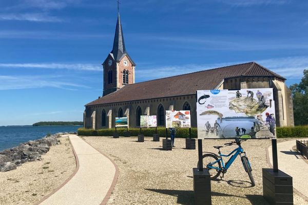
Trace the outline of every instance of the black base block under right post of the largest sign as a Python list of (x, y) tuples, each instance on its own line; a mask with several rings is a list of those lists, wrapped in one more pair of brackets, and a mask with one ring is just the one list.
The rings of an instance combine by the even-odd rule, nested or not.
[(278, 170), (262, 169), (263, 197), (270, 204), (293, 205), (293, 178)]

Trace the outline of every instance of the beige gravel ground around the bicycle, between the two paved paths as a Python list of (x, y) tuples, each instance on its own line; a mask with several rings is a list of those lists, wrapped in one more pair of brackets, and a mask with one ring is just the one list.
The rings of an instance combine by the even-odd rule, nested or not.
[[(194, 204), (192, 168), (197, 166), (197, 150), (186, 150), (185, 139), (176, 138), (176, 148), (162, 151), (160, 142), (145, 137), (83, 137), (93, 147), (111, 157), (119, 166), (120, 176), (108, 205), (115, 204)], [(282, 141), (286, 139), (279, 139)], [(213, 146), (229, 140), (203, 140), (203, 151), (215, 152)], [(268, 168), (265, 148), (270, 140), (248, 140), (242, 147), (251, 160), (256, 186), (251, 187), (238, 157), (223, 180), (212, 181), (212, 203), (267, 204), (262, 196), (262, 168)], [(222, 148), (224, 154), (236, 146)], [(308, 204), (294, 194), (294, 204)]]

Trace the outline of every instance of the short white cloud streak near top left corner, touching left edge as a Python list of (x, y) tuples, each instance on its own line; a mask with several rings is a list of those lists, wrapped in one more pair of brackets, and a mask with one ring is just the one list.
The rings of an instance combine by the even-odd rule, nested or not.
[(26, 20), (29, 22), (63, 22), (63, 19), (59, 17), (49, 16), (44, 13), (0, 14), (0, 20)]

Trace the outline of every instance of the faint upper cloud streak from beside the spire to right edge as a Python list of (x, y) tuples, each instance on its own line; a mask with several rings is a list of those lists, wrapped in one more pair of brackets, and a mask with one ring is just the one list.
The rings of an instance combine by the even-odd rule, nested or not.
[[(231, 50), (231, 51), (260, 51), (260, 50), (291, 50), (308, 49), (305, 39), (256, 39), (243, 36), (179, 36), (140, 33), (138, 40), (156, 40), (163, 42), (162, 46), (191, 50)], [(180, 44), (178, 44), (180, 43)]]

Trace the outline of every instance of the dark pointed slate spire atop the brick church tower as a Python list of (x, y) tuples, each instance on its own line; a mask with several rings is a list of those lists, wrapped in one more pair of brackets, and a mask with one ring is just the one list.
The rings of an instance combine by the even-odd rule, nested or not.
[(123, 54), (126, 53), (122, 25), (120, 20), (120, 13), (118, 13), (117, 27), (115, 28), (113, 48), (111, 53), (113, 54), (114, 60), (117, 61), (121, 60)]

